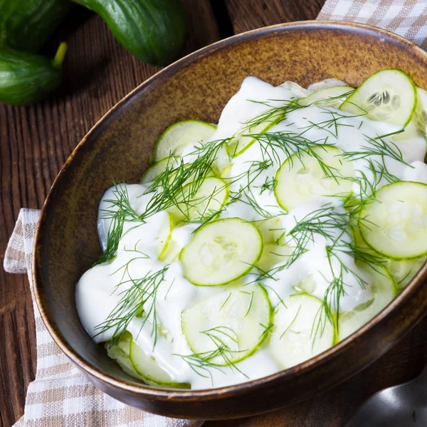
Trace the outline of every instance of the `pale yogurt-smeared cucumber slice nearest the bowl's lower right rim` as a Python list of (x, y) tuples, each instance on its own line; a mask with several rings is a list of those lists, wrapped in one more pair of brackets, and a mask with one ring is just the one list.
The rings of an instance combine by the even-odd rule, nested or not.
[(334, 327), (325, 322), (322, 333), (315, 334), (322, 301), (306, 294), (291, 295), (280, 304), (274, 316), (270, 349), (280, 367), (288, 369), (334, 344)]

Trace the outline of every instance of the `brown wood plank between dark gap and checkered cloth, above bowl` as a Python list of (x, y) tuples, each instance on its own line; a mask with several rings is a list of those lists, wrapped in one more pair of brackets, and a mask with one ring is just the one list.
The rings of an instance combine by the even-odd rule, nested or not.
[(316, 19), (325, 0), (225, 0), (235, 33)]

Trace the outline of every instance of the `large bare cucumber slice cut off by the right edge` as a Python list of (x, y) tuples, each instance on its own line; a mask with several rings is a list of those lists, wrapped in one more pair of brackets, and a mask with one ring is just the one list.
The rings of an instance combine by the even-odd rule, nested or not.
[(409, 260), (427, 255), (427, 185), (399, 181), (376, 193), (362, 209), (364, 241), (386, 258)]

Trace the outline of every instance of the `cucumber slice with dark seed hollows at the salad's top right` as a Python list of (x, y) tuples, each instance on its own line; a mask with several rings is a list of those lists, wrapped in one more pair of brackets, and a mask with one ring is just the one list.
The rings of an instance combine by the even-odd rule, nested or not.
[(381, 70), (370, 75), (342, 103), (340, 110), (405, 127), (416, 109), (416, 86), (403, 71)]

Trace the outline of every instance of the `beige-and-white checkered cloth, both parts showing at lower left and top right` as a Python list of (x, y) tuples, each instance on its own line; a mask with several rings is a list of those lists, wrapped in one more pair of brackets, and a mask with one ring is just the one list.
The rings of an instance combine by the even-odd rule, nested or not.
[[(318, 19), (357, 21), (386, 28), (427, 48), (427, 0), (327, 0)], [(31, 272), (31, 252), (39, 211), (22, 209), (6, 251), (4, 268)], [(32, 290), (31, 274), (28, 279)], [(199, 421), (144, 413), (110, 398), (90, 384), (60, 352), (34, 305), (36, 380), (28, 387), (25, 415), (16, 425), (34, 427), (195, 427)]]

